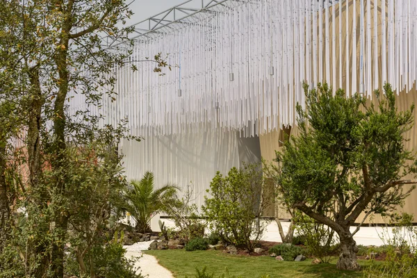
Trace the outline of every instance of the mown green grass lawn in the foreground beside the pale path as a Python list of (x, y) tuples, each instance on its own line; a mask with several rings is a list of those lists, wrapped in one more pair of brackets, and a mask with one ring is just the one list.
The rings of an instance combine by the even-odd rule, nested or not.
[[(174, 277), (195, 277), (195, 268), (207, 267), (208, 273), (220, 275), (227, 268), (230, 275), (244, 278), (260, 278), (262, 275), (275, 277), (307, 277), (307, 278), (338, 278), (363, 277), (362, 272), (336, 270), (336, 258), (329, 264), (312, 265), (311, 259), (306, 261), (276, 261), (269, 256), (235, 256), (221, 251), (155, 250), (146, 254), (156, 256), (159, 263), (172, 271)], [(359, 261), (366, 267), (369, 261)]]

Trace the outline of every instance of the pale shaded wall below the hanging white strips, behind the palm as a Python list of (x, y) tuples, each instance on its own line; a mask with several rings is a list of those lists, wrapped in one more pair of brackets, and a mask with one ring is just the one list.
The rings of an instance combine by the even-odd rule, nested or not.
[(222, 129), (124, 141), (121, 152), (128, 180), (140, 179), (146, 171), (152, 171), (156, 187), (176, 183), (183, 193), (192, 185), (197, 206), (204, 204), (215, 172), (227, 174), (242, 162), (261, 161), (258, 137), (239, 138), (238, 132)]

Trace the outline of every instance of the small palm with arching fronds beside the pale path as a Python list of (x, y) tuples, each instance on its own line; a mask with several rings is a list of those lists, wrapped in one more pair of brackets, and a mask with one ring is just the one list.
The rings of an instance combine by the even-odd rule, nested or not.
[(145, 233), (151, 231), (149, 222), (155, 213), (163, 211), (164, 204), (174, 202), (177, 186), (167, 184), (154, 189), (154, 174), (145, 172), (140, 181), (132, 180), (124, 190), (124, 208), (136, 221), (136, 229)]

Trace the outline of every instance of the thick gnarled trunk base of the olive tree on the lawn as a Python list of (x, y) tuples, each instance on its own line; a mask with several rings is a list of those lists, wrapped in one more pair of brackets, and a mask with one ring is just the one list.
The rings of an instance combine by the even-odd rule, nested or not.
[(341, 240), (341, 254), (336, 263), (339, 270), (361, 270), (361, 265), (357, 262), (358, 247), (354, 241), (349, 228), (345, 229), (345, 233), (338, 234)]

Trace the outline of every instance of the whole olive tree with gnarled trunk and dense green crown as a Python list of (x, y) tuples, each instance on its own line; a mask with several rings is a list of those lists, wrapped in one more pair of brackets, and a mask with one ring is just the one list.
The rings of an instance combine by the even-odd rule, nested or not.
[[(272, 165), (280, 193), (292, 208), (333, 229), (340, 239), (337, 268), (359, 270), (353, 238), (371, 213), (386, 214), (414, 189), (416, 156), (406, 148), (414, 104), (400, 112), (391, 85), (364, 97), (334, 95), (326, 84), (309, 90), (297, 105), (300, 136), (291, 137)], [(404, 188), (411, 184), (411, 188)], [(363, 214), (353, 231), (352, 224)]]

